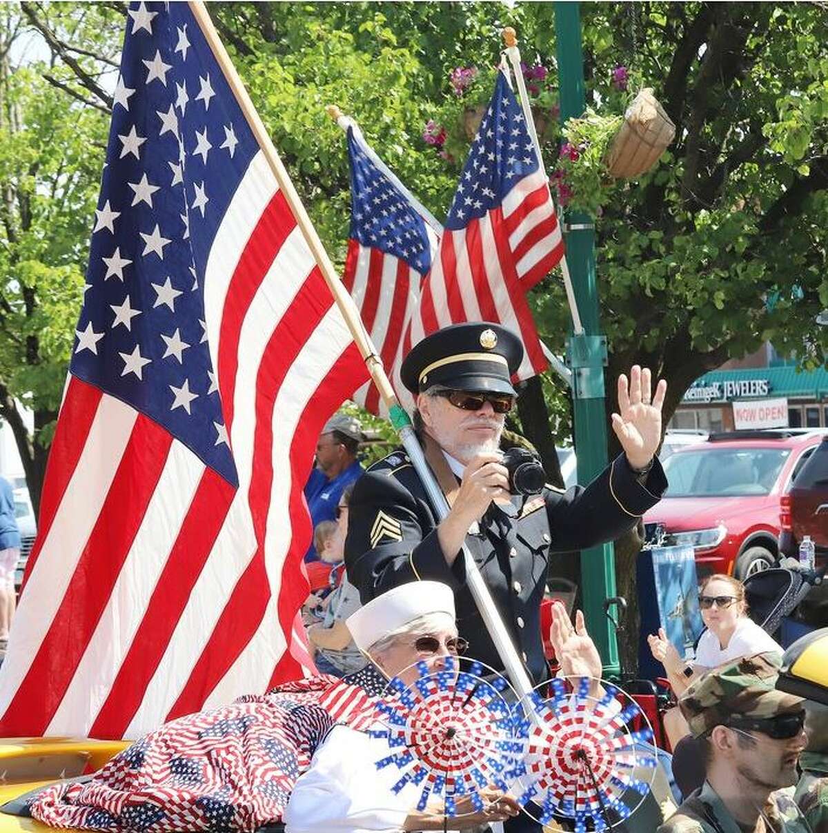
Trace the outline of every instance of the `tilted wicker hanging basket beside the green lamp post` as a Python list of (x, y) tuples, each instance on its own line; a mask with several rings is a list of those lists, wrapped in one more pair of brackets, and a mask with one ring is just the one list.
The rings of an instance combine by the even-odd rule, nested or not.
[(627, 107), (607, 155), (607, 170), (614, 177), (638, 177), (658, 162), (674, 137), (675, 124), (645, 87)]

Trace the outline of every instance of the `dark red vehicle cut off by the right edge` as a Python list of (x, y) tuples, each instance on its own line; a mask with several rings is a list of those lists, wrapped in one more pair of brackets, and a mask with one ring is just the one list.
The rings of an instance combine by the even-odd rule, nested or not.
[(803, 536), (810, 535), (817, 564), (828, 561), (828, 436), (810, 452), (781, 507), (780, 552), (797, 557)]

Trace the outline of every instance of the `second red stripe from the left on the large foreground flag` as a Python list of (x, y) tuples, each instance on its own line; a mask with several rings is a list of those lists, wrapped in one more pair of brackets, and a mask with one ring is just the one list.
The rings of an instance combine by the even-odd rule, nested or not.
[[(138, 415), (63, 600), (3, 715), (4, 733), (46, 731), (112, 595), (171, 445), (167, 431)], [(39, 706), (35, 714), (33, 702)]]

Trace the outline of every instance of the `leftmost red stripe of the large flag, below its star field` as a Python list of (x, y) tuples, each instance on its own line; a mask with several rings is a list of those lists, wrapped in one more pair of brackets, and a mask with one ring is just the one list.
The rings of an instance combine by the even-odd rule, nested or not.
[(28, 556), (23, 587), (26, 586), (28, 576), (31, 575), (33, 566), (38, 561), (43, 541), (46, 540), (52, 528), (52, 521), (54, 521), (58, 506), (63, 501), (69, 481), (72, 480), (75, 466), (78, 465), (83, 446), (86, 445), (86, 438), (95, 414), (98, 412), (98, 404), (102, 396), (98, 387), (83, 382), (77, 377), (69, 377), (66, 396), (63, 397), (63, 406), (60, 409), (60, 419), (46, 464), (38, 513), (38, 537)]

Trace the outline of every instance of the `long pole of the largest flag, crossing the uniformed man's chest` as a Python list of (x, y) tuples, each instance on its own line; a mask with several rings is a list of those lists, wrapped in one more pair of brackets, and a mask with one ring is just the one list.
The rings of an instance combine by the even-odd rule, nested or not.
[[(349, 295), (345, 289), (344, 284), (339, 280), (339, 275), (334, 269), (334, 264), (328, 257), (328, 252), (319, 239), (319, 235), (314, 228), (313, 223), (305, 211), (302, 201), (299, 199), (299, 194), (294, 188), (293, 182), (290, 181), (289, 174), (284, 167), (282, 160), (279, 158), (279, 153), (273, 147), (273, 142), (270, 140), (267, 129), (264, 127), (261, 117), (259, 117), (256, 108), (253, 107), (253, 102), (250, 100), (247, 89), (244, 87), (242, 79), (236, 72), (236, 67), (230, 60), (221, 38), (218, 37), (213, 26), (213, 21), (210, 19), (207, 7), (203, 0), (190, 0), (190, 11), (193, 12), (201, 32), (208, 42), (209, 47), (213, 50), (213, 57), (215, 57), (218, 66), (221, 67), (225, 80), (228, 82), (230, 90), (236, 97), (238, 106), (248, 121), (250, 129), (253, 131), (253, 136), (258, 142), (258, 146), (262, 149), (263, 156), (268, 162), (268, 165), (273, 172), (273, 177), (279, 184), (279, 189), (284, 194), (286, 201), (289, 203), (291, 210), (296, 217), (296, 223), (299, 227), (305, 242), (308, 243), (314, 259), (319, 265), (319, 270), (324, 277), (324, 281), (328, 284), (330, 291), (334, 295), (334, 300), (339, 306), (339, 311), (349, 331), (351, 332), (354, 342), (359, 348), (360, 355), (364, 358), (365, 366), (374, 381), (374, 384), (379, 390), (379, 394), (383, 397), (386, 407), (389, 411), (389, 419), (396, 431), (399, 433), (399, 438), (408, 452), (409, 458), (414, 465), (420, 479), (423, 481), (425, 491), (429, 495), (429, 500), (434, 506), (434, 511), (440, 520), (449, 514), (449, 504), (445, 499), (443, 491), (440, 489), (437, 481), (434, 479), (434, 474), (431, 472), (428, 463), (425, 461), (422, 446), (419, 444), (416, 434), (414, 433), (414, 426), (411, 424), (409, 415), (404, 408), (399, 404), (399, 401), (394, 394), (394, 388), (391, 387), (388, 376), (385, 374), (382, 359), (371, 341), (369, 333), (366, 331), (362, 318), (359, 316), (359, 310), (354, 302), (354, 299)], [(506, 673), (509, 680), (514, 686), (515, 691), (519, 696), (529, 696), (532, 691), (532, 682), (529, 674), (520, 661), (518, 652), (514, 648), (514, 642), (509, 631), (506, 630), (503, 619), (499, 611), (494, 606), (489, 587), (480, 574), (477, 564), (469, 551), (469, 548), (464, 544), (462, 548), (462, 555), (464, 559), (466, 584), (474, 596), (474, 601), (477, 603), (480, 615), (492, 637), (494, 646), (497, 648), (500, 659), (503, 661)]]

